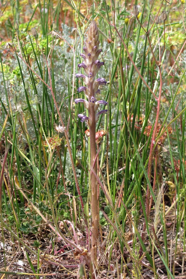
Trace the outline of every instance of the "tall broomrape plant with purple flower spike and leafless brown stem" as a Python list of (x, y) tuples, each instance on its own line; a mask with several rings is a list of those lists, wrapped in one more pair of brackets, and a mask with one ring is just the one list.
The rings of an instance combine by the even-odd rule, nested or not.
[(99, 108), (100, 104), (104, 106), (108, 103), (104, 100), (97, 101), (97, 96), (100, 94), (100, 85), (106, 85), (107, 82), (104, 78), (97, 78), (96, 74), (98, 73), (100, 67), (104, 65), (104, 62), (100, 62), (98, 60), (98, 56), (102, 51), (99, 49), (99, 40), (98, 40), (98, 28), (93, 20), (91, 22), (87, 39), (85, 42), (85, 47), (83, 50), (85, 54), (81, 53), (81, 57), (84, 61), (78, 64), (79, 68), (83, 68), (86, 75), (77, 73), (77, 78), (82, 78), (84, 84), (86, 86), (80, 86), (78, 88), (78, 92), (84, 91), (85, 97), (84, 99), (75, 99), (75, 104), (82, 102), (84, 103), (85, 108), (88, 110), (88, 116), (80, 113), (78, 117), (81, 119), (81, 122), (86, 121), (89, 130), (90, 130), (90, 150), (91, 150), (91, 179), (90, 179), (90, 187), (91, 187), (91, 215), (92, 215), (92, 242), (91, 242), (91, 265), (95, 265), (96, 256), (97, 256), (97, 240), (98, 240), (98, 226), (99, 226), (99, 196), (98, 196), (98, 183), (96, 178), (97, 173), (97, 165), (96, 165), (96, 122), (100, 114), (107, 113), (107, 109), (103, 109), (99, 112), (96, 112)]

